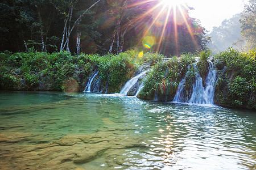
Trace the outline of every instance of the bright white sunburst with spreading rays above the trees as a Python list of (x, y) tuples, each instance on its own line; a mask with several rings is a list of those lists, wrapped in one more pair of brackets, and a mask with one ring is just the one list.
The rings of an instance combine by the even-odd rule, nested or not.
[[(183, 0), (144, 0), (144, 1), (137, 1), (137, 3), (130, 4), (129, 7), (135, 7), (135, 6), (141, 6), (147, 3), (154, 3), (155, 5), (148, 9), (145, 13), (142, 15), (139, 15), (137, 18), (133, 19), (132, 22), (141, 22), (144, 20), (146, 22), (146, 18), (148, 15), (152, 15), (152, 20), (150, 23), (147, 24), (146, 30), (143, 31), (143, 35), (141, 37), (141, 42), (143, 42), (143, 39), (147, 37), (148, 35), (151, 35), (151, 28), (154, 24), (158, 23), (159, 20), (162, 21), (162, 30), (159, 32), (160, 37), (158, 39), (158, 42), (156, 42), (155, 47), (156, 51), (160, 52), (161, 46), (163, 46), (163, 40), (164, 36), (168, 36), (167, 31), (170, 29), (168, 27), (168, 22), (170, 22), (170, 19), (174, 23), (174, 36), (175, 36), (175, 42), (173, 42), (176, 46), (176, 53), (179, 53), (178, 44), (179, 44), (179, 35), (177, 31), (177, 25), (185, 24), (185, 27), (187, 27), (187, 30), (192, 37), (192, 41), (197, 45), (195, 37), (193, 36), (193, 32), (189, 26), (188, 20), (187, 20), (187, 10), (189, 10), (187, 4)], [(143, 22), (141, 22), (142, 25)], [(152, 36), (152, 35), (151, 35)], [(144, 43), (144, 42), (143, 42)], [(139, 44), (138, 44), (139, 45)], [(143, 44), (144, 47), (148, 48), (149, 44)], [(154, 44), (150, 44), (150, 48), (152, 48)], [(148, 48), (148, 49), (150, 49)]]

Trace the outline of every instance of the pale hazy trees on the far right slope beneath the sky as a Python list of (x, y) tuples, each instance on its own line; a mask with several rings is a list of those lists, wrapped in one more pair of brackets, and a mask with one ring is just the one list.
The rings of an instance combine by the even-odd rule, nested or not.
[(207, 46), (218, 53), (230, 46), (243, 51), (256, 48), (256, 1), (250, 0), (243, 12), (225, 19), (220, 26), (213, 27), (208, 36), (211, 40)]

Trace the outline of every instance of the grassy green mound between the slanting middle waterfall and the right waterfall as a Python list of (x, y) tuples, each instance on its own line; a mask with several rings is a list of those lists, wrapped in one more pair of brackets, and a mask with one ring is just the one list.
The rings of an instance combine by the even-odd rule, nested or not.
[(180, 80), (187, 73), (188, 65), (192, 62), (195, 62), (193, 54), (162, 59), (153, 66), (148, 74), (139, 97), (154, 99), (154, 96), (157, 95), (160, 101), (171, 101), (176, 94)]

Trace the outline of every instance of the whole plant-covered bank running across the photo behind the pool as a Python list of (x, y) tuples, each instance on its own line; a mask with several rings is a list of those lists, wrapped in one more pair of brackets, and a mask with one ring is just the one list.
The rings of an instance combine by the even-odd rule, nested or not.
[[(189, 99), (198, 75), (206, 86), (211, 62), (217, 71), (214, 104), (256, 109), (255, 53), (228, 49), (213, 57), (201, 52), (166, 58), (133, 50), (105, 56), (5, 52), (0, 54), (0, 90), (84, 91), (90, 77), (97, 73), (97, 82), (92, 82), (97, 84), (97, 91), (112, 94), (119, 93), (127, 80), (147, 70), (146, 77), (140, 80), (143, 88), (139, 98), (154, 100), (157, 96), (159, 101), (173, 101), (181, 80), (187, 76), (184, 94)], [(136, 86), (139, 88), (139, 84)]]

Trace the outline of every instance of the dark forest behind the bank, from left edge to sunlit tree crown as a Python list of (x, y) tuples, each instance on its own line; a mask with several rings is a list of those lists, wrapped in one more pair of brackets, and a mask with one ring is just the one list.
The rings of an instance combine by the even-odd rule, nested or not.
[(106, 54), (129, 49), (166, 56), (206, 48), (187, 5), (135, 0), (8, 0), (0, 3), (0, 51)]

